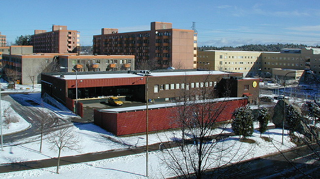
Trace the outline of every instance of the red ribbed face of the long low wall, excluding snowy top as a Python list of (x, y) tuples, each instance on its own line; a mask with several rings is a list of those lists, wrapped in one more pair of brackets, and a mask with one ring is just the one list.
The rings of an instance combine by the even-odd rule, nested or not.
[[(246, 105), (247, 99), (217, 102), (214, 106), (218, 110), (212, 110), (212, 115), (218, 115), (216, 122), (227, 121), (232, 117), (233, 111)], [(225, 105), (223, 108), (221, 106)], [(220, 111), (219, 111), (220, 110)], [(169, 128), (179, 128), (174, 121), (177, 107), (149, 109), (149, 131), (157, 131)], [(146, 131), (146, 110), (129, 111), (123, 113), (107, 113), (95, 111), (95, 124), (115, 135), (127, 135)], [(101, 116), (101, 118), (100, 118)], [(101, 121), (101, 122), (100, 122)]]

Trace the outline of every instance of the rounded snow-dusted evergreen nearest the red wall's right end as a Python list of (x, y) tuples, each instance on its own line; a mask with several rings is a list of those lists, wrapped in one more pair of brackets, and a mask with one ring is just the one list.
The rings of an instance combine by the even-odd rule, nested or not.
[(231, 126), (235, 135), (240, 135), (240, 139), (241, 135), (247, 138), (254, 133), (252, 110), (249, 105), (239, 107), (233, 112)]

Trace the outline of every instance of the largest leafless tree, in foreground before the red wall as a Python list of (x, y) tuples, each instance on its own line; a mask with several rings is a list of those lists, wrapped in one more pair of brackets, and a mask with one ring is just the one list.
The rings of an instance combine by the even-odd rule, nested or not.
[[(238, 150), (234, 145), (220, 145), (223, 130), (217, 132), (215, 129), (226, 128), (226, 125), (219, 125), (217, 122), (228, 113), (225, 109), (230, 107), (230, 103), (215, 99), (214, 89), (209, 83), (212, 80), (208, 75), (199, 83), (198, 88), (182, 88), (182, 96), (176, 100), (178, 107), (173, 111), (172, 121), (181, 131), (174, 130), (166, 135), (166, 140), (174, 138), (174, 141), (164, 146), (160, 160), (179, 178), (200, 179), (208, 169), (213, 172), (231, 160), (239, 160), (238, 156), (235, 159)], [(240, 158), (246, 154), (248, 153)], [(223, 158), (226, 155), (229, 157)], [(214, 177), (219, 178), (210, 176)]]

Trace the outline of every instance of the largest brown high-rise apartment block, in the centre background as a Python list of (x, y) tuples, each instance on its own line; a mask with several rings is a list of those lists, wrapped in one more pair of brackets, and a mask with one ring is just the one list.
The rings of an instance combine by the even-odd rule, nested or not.
[(158, 67), (196, 68), (196, 39), (193, 30), (172, 28), (172, 23), (152, 22), (145, 31), (118, 33), (117, 28), (102, 28), (94, 35), (96, 54), (135, 55), (136, 64), (155, 60)]

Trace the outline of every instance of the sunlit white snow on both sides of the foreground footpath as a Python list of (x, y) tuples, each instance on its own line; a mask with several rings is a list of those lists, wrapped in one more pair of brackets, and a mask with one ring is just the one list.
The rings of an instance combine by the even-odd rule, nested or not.
[[(88, 148), (101, 149), (103, 146), (104, 149), (108, 148), (121, 148), (123, 146), (113, 144), (112, 142), (108, 142), (107, 140), (97, 140), (96, 135), (93, 132), (89, 131), (80, 131), (81, 136), (83, 138), (82, 144), (85, 146), (86, 149), (83, 152), (89, 152)], [(97, 132), (97, 131), (96, 131)], [(244, 159), (249, 159), (253, 157), (258, 157), (261, 155), (275, 153), (278, 152), (277, 148), (280, 150), (286, 150), (289, 148), (294, 147), (295, 145), (291, 143), (289, 140), (288, 135), (285, 135), (285, 143), (281, 145), (281, 133), (282, 129), (270, 129), (262, 136), (271, 137), (273, 138), (273, 142), (266, 142), (261, 139), (259, 136), (259, 132), (255, 130), (250, 139), (256, 141), (256, 144), (249, 144), (244, 142), (239, 142), (239, 136), (230, 137), (226, 142), (220, 143), (219, 145), (226, 145), (228, 141), (230, 144), (234, 145), (236, 148), (240, 148), (242, 153), (251, 149), (250, 155), (247, 155)], [(98, 134), (98, 133), (96, 133)], [(287, 134), (287, 131), (285, 131)], [(155, 134), (151, 138), (157, 138)], [(140, 136), (143, 138), (144, 136)], [(128, 137), (128, 138), (121, 138), (122, 141), (128, 141), (128, 143), (139, 143), (138, 136), (135, 137)], [(137, 139), (138, 138), (138, 139)], [(138, 141), (137, 141), (138, 140)], [(230, 142), (232, 141), (232, 142)], [(96, 146), (98, 143), (99, 146)], [(101, 144), (103, 143), (103, 144)], [(274, 145), (277, 147), (275, 148)], [(57, 154), (53, 153), (48, 150), (44, 150), (42, 154), (37, 153), (38, 142), (34, 142), (33, 144), (26, 144), (17, 147), (9, 147), (5, 148), (4, 151), (1, 153), (1, 158), (15, 158), (15, 156), (20, 156), (20, 159), (26, 160), (27, 158), (48, 158), (48, 157), (55, 157)], [(43, 149), (46, 149), (44, 147)], [(95, 149), (92, 149), (95, 151)], [(160, 165), (160, 156), (162, 152), (150, 152), (149, 153), (149, 175), (151, 178), (168, 178), (174, 177), (167, 172), (165, 166)], [(239, 152), (241, 153), (241, 151)], [(63, 152), (64, 155), (76, 154), (73, 152)], [(42, 156), (39, 156), (42, 155)], [(227, 160), (227, 159), (226, 159)], [(13, 178), (13, 179), (20, 179), (20, 178), (46, 178), (46, 179), (55, 179), (59, 178), (96, 178), (96, 179), (120, 179), (120, 178), (144, 178), (145, 176), (145, 166), (146, 166), (146, 157), (145, 153), (141, 154), (134, 154), (104, 160), (98, 160), (93, 162), (84, 162), (79, 164), (71, 164), (65, 165), (60, 167), (60, 174), (55, 174), (56, 167), (49, 167), (43, 169), (35, 169), (35, 170), (27, 170), (27, 171), (19, 171), (19, 172), (10, 172), (10, 173), (2, 173), (0, 174), (0, 178)]]

